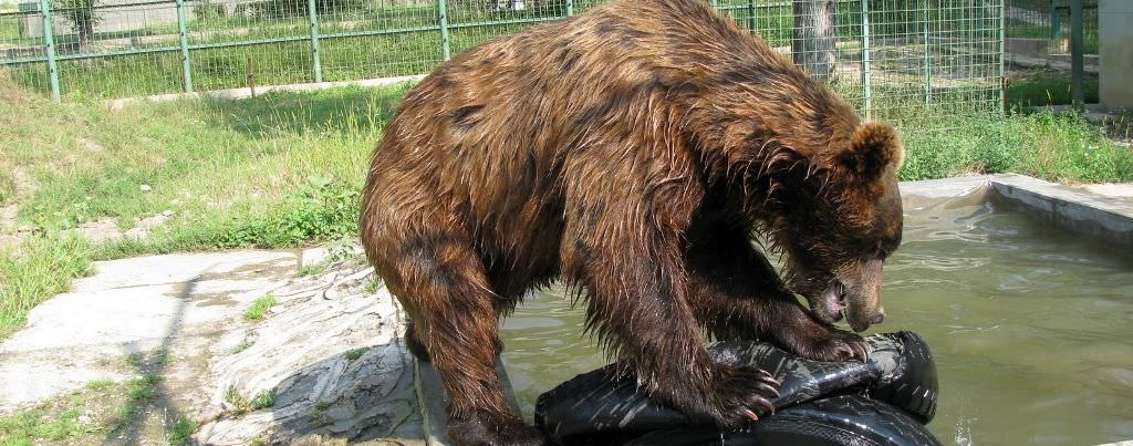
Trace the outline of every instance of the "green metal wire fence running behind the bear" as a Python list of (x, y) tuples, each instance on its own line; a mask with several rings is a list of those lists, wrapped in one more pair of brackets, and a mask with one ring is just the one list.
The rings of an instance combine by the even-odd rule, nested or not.
[[(0, 14), (0, 66), (121, 97), (428, 72), (602, 0), (34, 0)], [(1003, 0), (713, 0), (863, 114), (913, 130), (1002, 112)]]

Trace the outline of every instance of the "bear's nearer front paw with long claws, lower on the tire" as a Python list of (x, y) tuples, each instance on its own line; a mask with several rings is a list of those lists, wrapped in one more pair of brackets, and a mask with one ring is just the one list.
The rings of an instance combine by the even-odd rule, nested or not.
[(716, 408), (713, 418), (726, 429), (739, 429), (759, 414), (775, 411), (780, 381), (755, 367), (721, 367), (715, 383)]

